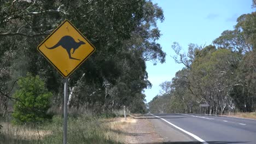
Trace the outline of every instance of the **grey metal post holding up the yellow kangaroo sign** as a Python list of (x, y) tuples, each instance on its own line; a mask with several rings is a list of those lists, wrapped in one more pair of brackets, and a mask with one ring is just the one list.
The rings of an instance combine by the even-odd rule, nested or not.
[(64, 79), (64, 119), (63, 119), (63, 144), (67, 144), (67, 87), (68, 78)]

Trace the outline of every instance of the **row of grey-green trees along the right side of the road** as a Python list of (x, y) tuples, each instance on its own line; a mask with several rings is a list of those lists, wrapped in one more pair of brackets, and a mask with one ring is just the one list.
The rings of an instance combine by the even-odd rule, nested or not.
[(238, 17), (234, 30), (224, 31), (212, 45), (189, 44), (183, 54), (173, 43), (174, 61), (185, 68), (160, 85), (164, 93), (149, 102), (150, 112), (199, 113), (200, 104), (209, 104), (206, 113), (217, 115), (255, 111), (255, 47), (255, 12)]

